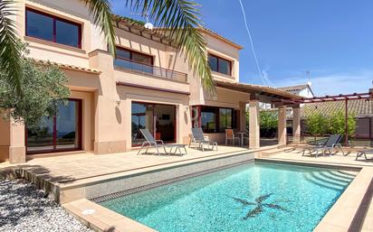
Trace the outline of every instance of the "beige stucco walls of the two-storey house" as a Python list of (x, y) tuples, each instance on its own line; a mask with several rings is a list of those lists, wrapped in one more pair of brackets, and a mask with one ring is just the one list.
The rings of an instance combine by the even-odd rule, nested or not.
[[(71, 97), (82, 100), (82, 149), (86, 152), (117, 153), (131, 149), (131, 103), (133, 101), (176, 106), (177, 143), (187, 144), (191, 128), (189, 106), (207, 105), (243, 110), (249, 98), (249, 94), (224, 88), (217, 88), (217, 98), (208, 97), (183, 54), (177, 53), (173, 47), (120, 29), (116, 29), (119, 46), (153, 56), (155, 66), (186, 73), (187, 81), (173, 81), (114, 68), (113, 58), (106, 51), (100, 30), (91, 23), (87, 9), (81, 1), (21, 0), (18, 6), (19, 14), (16, 17), (18, 32), (21, 38), (29, 43), (30, 57), (100, 71), (100, 74), (93, 74), (81, 70), (63, 70), (69, 79)], [(26, 37), (25, 6), (81, 23), (81, 49)], [(238, 49), (207, 33), (205, 37), (209, 52), (233, 62), (232, 77), (214, 73), (215, 79), (238, 81)], [(145, 88), (117, 86), (117, 81)], [(149, 88), (158, 88), (158, 90)], [(9, 156), (4, 151), (9, 151), (10, 147), (18, 149), (16, 153), (19, 154), (24, 149), (24, 126), (19, 125), (12, 129), (9, 123), (0, 121), (0, 130), (2, 132), (0, 133), (0, 159), (2, 156)], [(224, 139), (223, 134), (210, 136), (219, 142), (222, 142), (222, 136)]]

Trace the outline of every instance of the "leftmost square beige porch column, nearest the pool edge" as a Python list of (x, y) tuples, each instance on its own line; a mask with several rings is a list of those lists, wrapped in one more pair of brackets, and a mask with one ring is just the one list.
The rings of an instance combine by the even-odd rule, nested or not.
[(257, 149), (261, 145), (260, 108), (258, 100), (250, 100), (249, 114), (249, 148)]

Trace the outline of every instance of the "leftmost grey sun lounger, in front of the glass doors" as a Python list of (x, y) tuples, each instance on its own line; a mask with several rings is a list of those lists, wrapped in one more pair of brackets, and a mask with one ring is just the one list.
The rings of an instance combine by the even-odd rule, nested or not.
[[(168, 155), (170, 155), (172, 153), (174, 148), (175, 148), (174, 153), (177, 153), (177, 150), (178, 150), (178, 152), (180, 153), (181, 156), (183, 154), (187, 153), (186, 152), (186, 144), (165, 144), (165, 143), (163, 143), (162, 140), (154, 139), (153, 135), (151, 135), (151, 133), (148, 131), (148, 129), (140, 129), (139, 131), (141, 132), (142, 135), (144, 135), (144, 138), (145, 138), (146, 141), (141, 144), (141, 148), (139, 149), (138, 155), (141, 152), (142, 148), (144, 148), (145, 146), (147, 146), (147, 150), (145, 151), (145, 153), (148, 153), (148, 149), (150, 147), (156, 148), (158, 155), (160, 154), (159, 149), (161, 149), (161, 148), (163, 148), (165, 153), (167, 153), (166, 148), (169, 148), (169, 152), (167, 153)], [(181, 152), (181, 148), (184, 149), (185, 153)], [(154, 153), (154, 154), (156, 154), (156, 153)]]

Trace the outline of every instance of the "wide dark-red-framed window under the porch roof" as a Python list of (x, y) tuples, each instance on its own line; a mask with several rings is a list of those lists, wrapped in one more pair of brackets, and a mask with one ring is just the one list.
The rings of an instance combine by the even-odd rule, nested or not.
[(225, 132), (226, 128), (236, 128), (237, 113), (226, 107), (192, 107), (193, 127), (201, 127), (204, 133)]

